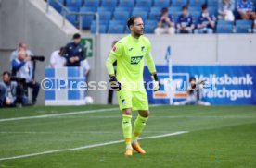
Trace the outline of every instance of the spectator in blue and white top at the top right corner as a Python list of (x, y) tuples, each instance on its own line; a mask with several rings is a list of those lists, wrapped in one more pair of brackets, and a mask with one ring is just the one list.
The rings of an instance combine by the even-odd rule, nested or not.
[(255, 22), (256, 15), (253, 11), (253, 4), (250, 0), (238, 0), (237, 1), (237, 11), (240, 18), (242, 19), (252, 19)]

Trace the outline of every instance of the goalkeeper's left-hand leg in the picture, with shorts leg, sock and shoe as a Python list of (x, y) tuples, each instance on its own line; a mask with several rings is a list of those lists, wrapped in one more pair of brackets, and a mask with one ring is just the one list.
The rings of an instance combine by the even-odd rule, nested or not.
[(127, 90), (117, 92), (119, 107), (122, 110), (122, 133), (126, 144), (125, 155), (133, 155), (132, 148), (132, 94)]

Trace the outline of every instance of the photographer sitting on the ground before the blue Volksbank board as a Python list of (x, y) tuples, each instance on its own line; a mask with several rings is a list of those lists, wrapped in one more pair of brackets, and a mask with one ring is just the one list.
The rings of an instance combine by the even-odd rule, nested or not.
[(186, 101), (183, 102), (174, 102), (174, 105), (210, 105), (209, 102), (203, 102), (202, 100), (202, 91), (204, 88), (205, 82), (197, 82), (195, 77), (189, 78), (189, 86), (186, 90), (187, 97)]

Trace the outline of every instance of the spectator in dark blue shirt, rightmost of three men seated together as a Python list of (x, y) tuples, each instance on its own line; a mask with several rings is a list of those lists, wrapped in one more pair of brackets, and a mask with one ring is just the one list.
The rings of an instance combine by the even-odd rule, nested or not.
[(198, 18), (198, 33), (213, 33), (216, 18), (208, 12), (208, 6), (202, 5), (202, 13)]

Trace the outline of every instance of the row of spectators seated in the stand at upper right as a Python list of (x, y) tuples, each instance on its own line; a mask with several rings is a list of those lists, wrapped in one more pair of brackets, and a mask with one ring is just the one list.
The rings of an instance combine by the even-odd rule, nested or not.
[(217, 20), (234, 21), (235, 9), (237, 19), (252, 20), (252, 30), (256, 32), (256, 13), (250, 0), (238, 0), (235, 8), (234, 0), (219, 0), (218, 16), (208, 10), (207, 4), (201, 6), (198, 18), (189, 12), (189, 6), (182, 6), (182, 13), (174, 19), (168, 12), (167, 7), (163, 7), (158, 19), (155, 34), (176, 33), (213, 33), (216, 29)]

